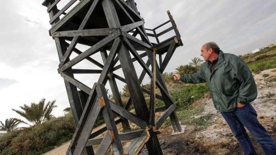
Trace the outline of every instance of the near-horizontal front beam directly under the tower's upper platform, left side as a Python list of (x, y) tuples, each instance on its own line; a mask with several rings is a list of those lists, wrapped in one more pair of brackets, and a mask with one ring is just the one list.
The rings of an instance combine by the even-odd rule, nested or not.
[(52, 34), (52, 37), (75, 37), (75, 36), (105, 36), (115, 32), (115, 28), (96, 28), (96, 29), (81, 29), (70, 31), (56, 31)]

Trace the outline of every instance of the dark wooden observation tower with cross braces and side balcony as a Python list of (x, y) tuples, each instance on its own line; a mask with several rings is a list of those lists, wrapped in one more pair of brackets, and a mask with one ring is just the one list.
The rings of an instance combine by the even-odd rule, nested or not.
[[(168, 65), (175, 49), (182, 46), (176, 24), (167, 11), (169, 20), (153, 29), (144, 28), (144, 19), (136, 8), (134, 0), (68, 0), (61, 8), (61, 0), (45, 0), (50, 15), (50, 36), (56, 42), (60, 60), (58, 73), (64, 78), (76, 131), (72, 137), (67, 155), (101, 155), (109, 147), (115, 155), (138, 154), (146, 144), (149, 154), (161, 155), (162, 150), (157, 138), (158, 129), (169, 117), (174, 132), (182, 132), (175, 113), (176, 106), (169, 96), (162, 79), (162, 72)], [(164, 25), (171, 26), (160, 33), (157, 29)], [(159, 41), (160, 36), (169, 31), (174, 36)], [(148, 37), (152, 37), (155, 43)], [(81, 51), (77, 44), (89, 46)], [(72, 58), (72, 52), (78, 54)], [(102, 62), (93, 58), (100, 53)], [(133, 55), (133, 57), (131, 57)], [(156, 60), (156, 56), (159, 60)], [(162, 55), (164, 59), (162, 59)], [(145, 62), (142, 58), (146, 57)], [(70, 59), (72, 58), (72, 59)], [(145, 58), (144, 58), (145, 59)], [(86, 60), (98, 69), (76, 69), (74, 65)], [(133, 62), (138, 61), (143, 71), (138, 77)], [(117, 65), (119, 64), (119, 65)], [(151, 69), (149, 68), (151, 66)], [(121, 69), (123, 75), (114, 71)], [(92, 88), (77, 80), (76, 74), (99, 74), (98, 81)], [(141, 86), (145, 75), (151, 78), (151, 89)], [(123, 106), (116, 80), (127, 84), (130, 97)], [(107, 96), (105, 84), (109, 82), (114, 100)], [(156, 86), (161, 95), (155, 93)], [(150, 104), (146, 104), (144, 94), (150, 95)], [(165, 103), (155, 107), (155, 99)], [(135, 112), (130, 112), (133, 105)], [(155, 112), (164, 111), (155, 119)], [(119, 119), (114, 119), (114, 114)], [(98, 116), (103, 116), (105, 127), (92, 132)], [(132, 131), (129, 121), (140, 129)], [(123, 133), (118, 133), (116, 125), (121, 123)], [(98, 135), (105, 133), (103, 137)], [(128, 148), (122, 147), (122, 141), (130, 141)], [(99, 145), (93, 150), (94, 145)]]

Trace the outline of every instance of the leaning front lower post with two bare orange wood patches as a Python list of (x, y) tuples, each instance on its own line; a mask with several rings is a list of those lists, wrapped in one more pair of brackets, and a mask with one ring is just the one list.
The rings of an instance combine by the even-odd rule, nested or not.
[[(119, 139), (119, 134), (117, 131), (117, 127), (114, 121), (114, 116), (111, 111), (111, 107), (109, 104), (109, 99), (106, 94), (104, 85), (98, 85), (96, 87), (98, 98), (102, 98), (102, 100), (105, 103), (105, 106), (103, 107), (103, 116), (104, 116), (104, 121), (107, 127), (107, 130), (111, 131), (111, 136), (112, 136), (112, 150), (114, 152), (114, 155), (121, 155), (123, 154), (124, 150), (121, 144), (121, 141)], [(89, 137), (89, 136), (88, 136)]]

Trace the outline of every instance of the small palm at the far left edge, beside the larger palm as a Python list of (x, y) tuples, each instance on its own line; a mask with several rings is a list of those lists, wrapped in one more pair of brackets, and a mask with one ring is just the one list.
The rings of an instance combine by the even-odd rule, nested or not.
[(9, 118), (9, 119), (6, 119), (5, 124), (3, 124), (2, 121), (0, 121), (0, 123), (1, 123), (0, 131), (10, 132), (18, 129), (17, 126), (20, 123), (25, 123), (25, 122), (17, 118)]

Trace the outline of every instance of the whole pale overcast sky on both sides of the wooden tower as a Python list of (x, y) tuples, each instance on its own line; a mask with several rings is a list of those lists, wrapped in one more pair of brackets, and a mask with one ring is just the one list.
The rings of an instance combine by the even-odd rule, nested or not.
[[(56, 116), (69, 106), (63, 79), (57, 73), (55, 42), (48, 33), (49, 15), (42, 2), (0, 1), (0, 121), (21, 118), (11, 109), (37, 103), (41, 98), (57, 100), (58, 108), (53, 111)], [(200, 57), (201, 45), (208, 41), (215, 41), (225, 53), (239, 55), (276, 39), (275, 0), (137, 0), (136, 3), (146, 28), (167, 21), (167, 10), (176, 21), (184, 46), (176, 50), (167, 72)], [(89, 79), (84, 82), (89, 86), (98, 80), (91, 75), (79, 78)]]

